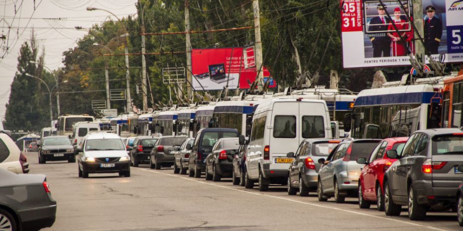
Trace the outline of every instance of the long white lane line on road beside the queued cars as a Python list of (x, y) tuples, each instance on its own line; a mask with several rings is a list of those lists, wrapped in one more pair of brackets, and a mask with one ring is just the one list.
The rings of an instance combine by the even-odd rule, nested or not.
[(152, 173), (157, 173), (157, 174), (162, 174), (162, 175), (167, 175), (167, 176), (178, 177), (178, 178), (182, 178), (182, 179), (185, 179), (185, 180), (195, 181), (195, 182), (198, 182), (198, 183), (208, 184), (208, 185), (212, 185), (212, 186), (216, 186), (216, 187), (220, 187), (220, 188), (231, 189), (231, 190), (234, 190), (234, 191), (245, 192), (245, 193), (249, 193), (249, 194), (253, 194), (253, 195), (266, 196), (266, 197), (270, 197), (270, 198), (291, 201), (291, 202), (304, 204), (304, 205), (311, 205), (311, 206), (316, 206), (316, 207), (325, 208), (325, 209), (332, 209), (332, 210), (337, 210), (337, 211), (342, 211), (342, 212), (347, 212), (347, 213), (352, 213), (352, 214), (358, 214), (358, 215), (362, 215), (362, 216), (366, 216), (366, 217), (379, 218), (379, 219), (388, 220), (388, 221), (391, 221), (391, 222), (407, 224), (407, 225), (421, 227), (421, 228), (425, 228), (425, 229), (429, 229), (429, 230), (449, 231), (449, 230), (436, 228), (436, 227), (433, 227), (433, 226), (425, 226), (425, 225), (420, 225), (420, 224), (416, 224), (416, 223), (413, 223), (413, 222), (400, 221), (400, 220), (396, 220), (396, 219), (388, 218), (388, 217), (381, 217), (381, 216), (372, 215), (372, 214), (365, 214), (365, 213), (360, 213), (360, 212), (351, 211), (351, 210), (347, 210), (347, 209), (341, 209), (341, 208), (336, 208), (336, 207), (331, 207), (331, 206), (325, 206), (325, 205), (319, 205), (319, 204), (314, 204), (314, 203), (309, 203), (309, 202), (303, 202), (303, 201), (293, 200), (293, 199), (279, 197), (279, 196), (267, 195), (267, 194), (263, 194), (263, 193), (250, 192), (250, 191), (246, 191), (246, 190), (243, 190), (243, 189), (237, 189), (237, 188), (232, 188), (232, 187), (229, 187), (229, 186), (210, 183), (210, 182), (207, 182), (207, 181), (199, 181), (199, 180), (197, 180), (198, 178), (190, 178), (190, 177), (184, 177), (184, 176), (181, 176), (181, 175), (173, 175), (173, 174), (170, 174), (170, 173), (164, 173), (164, 172), (161, 172), (161, 171), (149, 170), (149, 169), (144, 169), (144, 168), (135, 168), (135, 169), (148, 171), (148, 172), (152, 172)]

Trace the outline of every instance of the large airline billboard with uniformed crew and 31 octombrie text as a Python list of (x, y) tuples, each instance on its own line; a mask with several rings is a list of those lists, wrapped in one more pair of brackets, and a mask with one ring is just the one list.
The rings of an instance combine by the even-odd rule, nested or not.
[[(410, 7), (402, 9), (399, 1)], [(414, 54), (419, 42), (408, 20), (415, 17), (411, 0), (381, 0), (385, 9), (379, 0), (340, 2), (344, 68), (410, 65), (407, 50)], [(428, 6), (434, 12), (428, 13)], [(463, 62), (463, 0), (423, 0), (422, 12), (418, 17), (423, 18), (425, 47), (432, 58)]]

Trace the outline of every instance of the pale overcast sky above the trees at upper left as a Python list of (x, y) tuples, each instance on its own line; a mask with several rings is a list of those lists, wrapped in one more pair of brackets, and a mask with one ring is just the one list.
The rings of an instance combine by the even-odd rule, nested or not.
[[(8, 42), (0, 39), (1, 119), (4, 118), (5, 104), (8, 102), (11, 82), (17, 70), (19, 48), (30, 39), (32, 28), (37, 35), (38, 44), (45, 47), (45, 65), (54, 70), (62, 66), (62, 53), (75, 47), (76, 41), (86, 34), (85, 31), (76, 30), (75, 26), (89, 28), (110, 18), (116, 20), (105, 11), (87, 11), (87, 6), (107, 9), (121, 18), (136, 13), (135, 2), (136, 0), (0, 0), (0, 19), (4, 20), (0, 20), (0, 36), (7, 35), (8, 24), (11, 25)], [(6, 44), (9, 53), (1, 59)]]

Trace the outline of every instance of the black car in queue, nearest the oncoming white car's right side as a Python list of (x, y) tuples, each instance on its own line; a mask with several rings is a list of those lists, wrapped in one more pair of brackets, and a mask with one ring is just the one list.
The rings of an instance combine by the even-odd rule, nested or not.
[(130, 165), (138, 167), (138, 164), (149, 164), (150, 153), (159, 138), (139, 136), (133, 141), (130, 155)]

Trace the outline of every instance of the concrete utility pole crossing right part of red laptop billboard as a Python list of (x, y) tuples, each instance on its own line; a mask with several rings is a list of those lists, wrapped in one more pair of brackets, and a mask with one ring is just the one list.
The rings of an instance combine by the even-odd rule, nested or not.
[(262, 41), (260, 40), (260, 12), (259, 0), (252, 1), (252, 11), (254, 12), (254, 34), (255, 34), (255, 68), (257, 71), (257, 91), (262, 91), (262, 81), (264, 78), (262, 67)]

